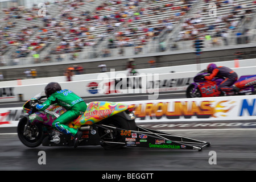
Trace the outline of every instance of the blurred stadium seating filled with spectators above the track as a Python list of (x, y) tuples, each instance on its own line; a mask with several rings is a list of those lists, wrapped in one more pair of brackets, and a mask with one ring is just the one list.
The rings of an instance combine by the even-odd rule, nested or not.
[[(216, 6), (216, 16), (209, 15), (209, 3)], [(30, 58), (26, 63), (47, 61), (47, 56), (57, 61), (60, 55), (74, 60), (78, 52), (88, 59), (191, 49), (195, 35), (205, 39), (205, 47), (224, 46), (245, 34), (241, 27), (255, 15), (255, 3), (246, 0), (60, 1), (46, 3), (43, 17), (39, 9), (0, 12), (2, 65), (20, 64), (22, 57)], [(233, 42), (225, 42), (225, 36)]]

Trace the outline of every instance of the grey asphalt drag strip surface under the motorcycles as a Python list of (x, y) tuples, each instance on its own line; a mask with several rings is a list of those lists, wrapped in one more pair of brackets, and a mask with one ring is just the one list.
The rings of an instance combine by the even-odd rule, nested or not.
[[(184, 93), (165, 93), (158, 99), (184, 98)], [(104, 101), (122, 102), (146, 100), (147, 96), (108, 96)], [(102, 98), (85, 98), (86, 102), (102, 101)], [(22, 102), (0, 104), (0, 107), (19, 107)], [(226, 121), (223, 121), (226, 122)], [(256, 121), (236, 121), (256, 122)], [(158, 148), (124, 147), (121, 150), (104, 150), (101, 146), (44, 147), (28, 148), (18, 139), (14, 129), (0, 131), (1, 171), (98, 171), (97, 180), (102, 180), (106, 172), (125, 172), (122, 180), (132, 181), (134, 173), (153, 173), (143, 180), (156, 180), (158, 171), (254, 171), (256, 169), (256, 129), (252, 127), (194, 127), (182, 130), (161, 123), (143, 123), (145, 127), (165, 130), (169, 133), (208, 141), (209, 147), (197, 150), (175, 150)], [(166, 124), (166, 123), (165, 123)], [(39, 164), (40, 153), (44, 151), (46, 164)], [(87, 172), (88, 173), (88, 172)], [(85, 173), (85, 174), (87, 174)], [(94, 174), (94, 173), (92, 173)], [(164, 173), (168, 175), (170, 173)], [(88, 173), (89, 175), (89, 173)], [(95, 175), (95, 174), (94, 174)], [(118, 181), (113, 179), (110, 181)], [(183, 179), (185, 176), (179, 176)], [(200, 177), (200, 176), (197, 176)], [(202, 176), (201, 176), (202, 177)], [(200, 178), (201, 178), (200, 177)], [(107, 180), (105, 180), (107, 181)]]

